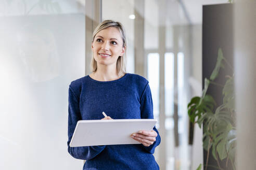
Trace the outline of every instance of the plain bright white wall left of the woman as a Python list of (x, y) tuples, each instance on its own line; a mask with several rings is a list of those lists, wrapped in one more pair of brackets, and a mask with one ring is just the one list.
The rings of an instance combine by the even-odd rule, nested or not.
[(85, 16), (75, 1), (38, 2), (0, 2), (0, 169), (81, 169), (67, 122), (69, 83), (85, 72)]

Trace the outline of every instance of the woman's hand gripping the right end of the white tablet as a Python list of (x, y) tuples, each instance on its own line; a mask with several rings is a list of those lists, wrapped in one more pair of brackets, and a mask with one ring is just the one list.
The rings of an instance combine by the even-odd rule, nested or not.
[(156, 141), (157, 132), (152, 131), (139, 131), (138, 133), (133, 133), (131, 137), (134, 140), (137, 140), (139, 143), (141, 143), (144, 146), (150, 146)]

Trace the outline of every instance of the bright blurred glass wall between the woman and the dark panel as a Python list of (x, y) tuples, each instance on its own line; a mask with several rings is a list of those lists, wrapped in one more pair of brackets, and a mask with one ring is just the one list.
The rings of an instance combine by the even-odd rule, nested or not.
[(149, 80), (161, 135), (155, 153), (160, 169), (196, 169), (202, 163), (197, 127), (194, 145), (188, 145), (187, 104), (202, 89), (202, 5), (224, 2), (102, 1), (102, 20), (120, 21), (128, 35), (128, 72)]

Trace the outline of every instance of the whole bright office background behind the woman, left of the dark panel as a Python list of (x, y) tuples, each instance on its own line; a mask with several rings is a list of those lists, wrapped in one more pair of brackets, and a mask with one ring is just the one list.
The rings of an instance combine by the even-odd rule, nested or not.
[(187, 104), (202, 90), (202, 5), (227, 0), (1, 0), (0, 169), (82, 169), (67, 151), (68, 87), (89, 74), (96, 25), (127, 35), (127, 72), (149, 80), (160, 169), (203, 163)]

